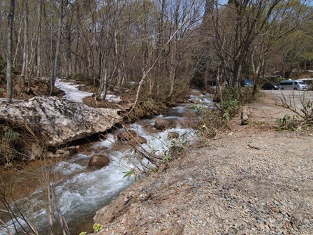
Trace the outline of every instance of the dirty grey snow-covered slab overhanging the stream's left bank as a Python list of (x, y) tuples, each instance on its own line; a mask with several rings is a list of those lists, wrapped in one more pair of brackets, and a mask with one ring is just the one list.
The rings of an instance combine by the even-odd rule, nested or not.
[(27, 125), (49, 146), (92, 136), (110, 129), (122, 118), (117, 110), (91, 108), (85, 104), (57, 97), (34, 97), (17, 104), (0, 104), (0, 120)]

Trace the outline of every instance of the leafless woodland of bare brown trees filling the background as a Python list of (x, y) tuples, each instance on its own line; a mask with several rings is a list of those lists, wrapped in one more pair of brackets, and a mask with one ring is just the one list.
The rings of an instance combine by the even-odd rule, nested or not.
[[(0, 83), (74, 78), (171, 100), (180, 90), (312, 68), (312, 1), (5, 0)], [(12, 70), (12, 72), (11, 72)], [(6, 74), (6, 78), (5, 78)], [(215, 81), (217, 83), (215, 83)], [(14, 86), (14, 84), (13, 84)]]

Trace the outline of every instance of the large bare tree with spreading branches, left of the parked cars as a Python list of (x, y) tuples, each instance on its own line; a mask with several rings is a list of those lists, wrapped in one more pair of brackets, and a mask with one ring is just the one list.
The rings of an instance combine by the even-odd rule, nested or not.
[(217, 54), (225, 69), (231, 73), (230, 84), (239, 87), (242, 66), (256, 37), (272, 21), (275, 9), (288, 3), (282, 0), (235, 0), (220, 8), (218, 1), (208, 1)]

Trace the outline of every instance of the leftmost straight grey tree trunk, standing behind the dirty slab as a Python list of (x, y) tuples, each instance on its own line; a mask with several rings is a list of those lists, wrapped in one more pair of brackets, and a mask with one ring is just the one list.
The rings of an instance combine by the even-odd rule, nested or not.
[(6, 59), (6, 101), (12, 102), (12, 38), (13, 38), (13, 20), (14, 20), (15, 0), (10, 2), (10, 11), (8, 13), (8, 57)]

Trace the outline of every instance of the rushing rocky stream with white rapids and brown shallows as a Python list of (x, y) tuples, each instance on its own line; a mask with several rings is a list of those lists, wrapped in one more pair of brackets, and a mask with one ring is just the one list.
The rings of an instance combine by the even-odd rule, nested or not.
[[(57, 87), (66, 92), (65, 99), (76, 102), (81, 102), (84, 97), (91, 95), (78, 90), (78, 85), (61, 80), (57, 80)], [(190, 100), (198, 100), (201, 102), (199, 105), (211, 107), (212, 99), (199, 93), (196, 90), (191, 91)], [(108, 99), (114, 101), (118, 97), (110, 95)], [(180, 104), (169, 108), (167, 113), (155, 118), (129, 124), (128, 129), (136, 131), (139, 136), (147, 139), (147, 143), (143, 144), (145, 150), (162, 155), (173, 144), (173, 140), (168, 139), (169, 132), (179, 133), (181, 142), (196, 141), (196, 132), (188, 128), (189, 121), (186, 117), (187, 108), (191, 105), (191, 103)], [(157, 118), (171, 120), (176, 123), (176, 127), (166, 131), (157, 131), (154, 129), (154, 122)], [(102, 169), (89, 168), (90, 157), (99, 154), (110, 157), (110, 164)], [(133, 155), (131, 148), (117, 140), (115, 131), (105, 134), (96, 142), (84, 145), (82, 152), (75, 153), (69, 158), (55, 160), (52, 164), (40, 161), (36, 164), (31, 163), (31, 166), (26, 167), (23, 172), (13, 173), (15, 189), (20, 190), (20, 194), (23, 196), (17, 200), (17, 204), (22, 204), (24, 215), (27, 215), (29, 220), (38, 227), (38, 233), (46, 234), (47, 180), (45, 179), (49, 176), (50, 180), (48, 181), (54, 190), (54, 204), (59, 205), (59, 211), (66, 219), (71, 234), (79, 234), (82, 231), (91, 232), (90, 229), (94, 223), (92, 218), (96, 211), (109, 204), (122, 190), (135, 181), (133, 176), (131, 178), (124, 177), (126, 171), (135, 168), (135, 165), (138, 164), (136, 157), (129, 157)], [(148, 162), (144, 162), (144, 164), (148, 164)], [(36, 175), (36, 179), (31, 178), (33, 175)], [(16, 210), (14, 205), (12, 207)], [(56, 213), (54, 214), (56, 215)], [(14, 220), (9, 220), (8, 215), (5, 216), (1, 211), (0, 215), (1, 220), (5, 220), (6, 223), (5, 226), (0, 227), (0, 234), (13, 232)], [(21, 217), (18, 220), (25, 225)], [(54, 222), (54, 224), (54, 234), (60, 234), (57, 223)]]

